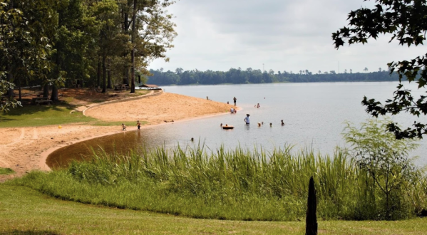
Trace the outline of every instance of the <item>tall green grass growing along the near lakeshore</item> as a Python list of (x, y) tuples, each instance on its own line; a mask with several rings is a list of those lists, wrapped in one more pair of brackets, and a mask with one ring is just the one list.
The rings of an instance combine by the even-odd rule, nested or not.
[(421, 174), (396, 191), (398, 207), (387, 214), (381, 191), (345, 151), (329, 156), (291, 150), (205, 150), (199, 145), (128, 155), (96, 152), (89, 162), (31, 172), (12, 183), (88, 204), (195, 218), (286, 221), (304, 217), (314, 176), (318, 216), (324, 219), (404, 219), (427, 208)]

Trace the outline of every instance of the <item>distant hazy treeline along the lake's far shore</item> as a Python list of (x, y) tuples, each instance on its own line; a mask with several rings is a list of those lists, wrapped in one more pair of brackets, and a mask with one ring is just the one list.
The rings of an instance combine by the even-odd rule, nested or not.
[(371, 73), (336, 73), (335, 71), (312, 73), (310, 71), (299, 71), (292, 73), (283, 71), (264, 71), (247, 68), (230, 68), (229, 71), (183, 71), (177, 68), (175, 71), (150, 70), (153, 76), (148, 78), (148, 83), (156, 85), (214, 85), (223, 83), (245, 84), (245, 83), (317, 83), (317, 82), (359, 82), (359, 81), (387, 81), (398, 80), (398, 75), (389, 71)]

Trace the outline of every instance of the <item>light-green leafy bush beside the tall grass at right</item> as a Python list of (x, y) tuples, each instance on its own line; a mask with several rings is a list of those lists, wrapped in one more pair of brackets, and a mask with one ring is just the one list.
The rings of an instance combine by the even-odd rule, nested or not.
[(379, 205), (379, 219), (398, 219), (411, 208), (406, 192), (419, 184), (421, 172), (409, 158), (409, 152), (418, 146), (416, 140), (396, 140), (386, 132), (388, 122), (368, 120), (359, 129), (347, 122), (344, 137), (367, 185), (362, 194), (369, 199), (365, 207)]

